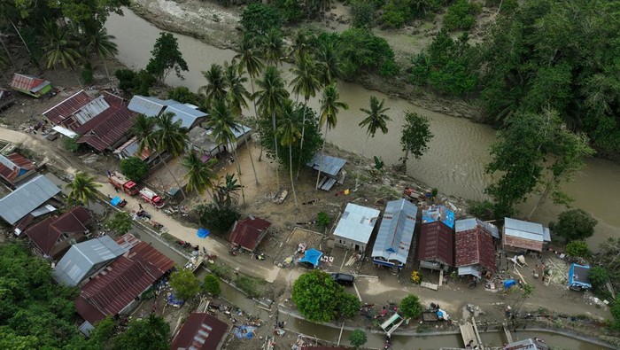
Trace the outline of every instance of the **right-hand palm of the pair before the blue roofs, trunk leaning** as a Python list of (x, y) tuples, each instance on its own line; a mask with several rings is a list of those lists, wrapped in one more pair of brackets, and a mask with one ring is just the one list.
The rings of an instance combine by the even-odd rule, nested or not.
[(163, 113), (157, 118), (157, 125), (155, 131), (151, 134), (153, 149), (159, 152), (159, 159), (164, 163), (164, 166), (168, 169), (168, 173), (174, 179), (174, 183), (178, 187), (183, 196), (183, 200), (187, 200), (185, 192), (183, 191), (181, 184), (174, 176), (170, 167), (164, 159), (161, 158), (161, 153), (168, 152), (173, 158), (179, 157), (185, 151), (185, 143), (188, 141), (188, 133), (190, 130), (182, 126), (182, 121), (174, 121), (173, 113)]

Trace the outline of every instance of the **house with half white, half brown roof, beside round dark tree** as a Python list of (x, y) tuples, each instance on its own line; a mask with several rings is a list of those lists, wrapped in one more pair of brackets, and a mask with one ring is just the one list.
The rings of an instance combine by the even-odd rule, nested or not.
[(501, 239), (504, 249), (510, 252), (542, 252), (543, 245), (551, 241), (551, 234), (539, 223), (504, 218)]

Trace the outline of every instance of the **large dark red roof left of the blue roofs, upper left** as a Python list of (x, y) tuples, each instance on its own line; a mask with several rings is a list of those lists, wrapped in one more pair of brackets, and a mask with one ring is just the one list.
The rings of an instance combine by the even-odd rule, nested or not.
[(74, 130), (81, 134), (78, 143), (89, 144), (97, 151), (104, 151), (125, 136), (137, 116), (122, 98), (108, 92), (104, 92), (104, 98), (110, 107)]

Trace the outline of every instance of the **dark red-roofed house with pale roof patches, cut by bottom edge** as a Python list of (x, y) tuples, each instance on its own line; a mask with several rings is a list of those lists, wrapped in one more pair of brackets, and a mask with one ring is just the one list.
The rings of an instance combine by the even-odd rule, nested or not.
[(171, 350), (220, 350), (228, 324), (204, 313), (191, 313), (176, 334)]

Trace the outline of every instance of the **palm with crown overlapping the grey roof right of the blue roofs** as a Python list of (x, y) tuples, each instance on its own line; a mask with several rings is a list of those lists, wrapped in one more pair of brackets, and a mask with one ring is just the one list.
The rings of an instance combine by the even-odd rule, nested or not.
[(212, 129), (211, 135), (215, 138), (215, 142), (218, 144), (226, 144), (232, 149), (236, 164), (236, 174), (239, 178), (239, 185), (241, 185), (241, 197), (245, 205), (244, 183), (241, 181), (241, 166), (236, 158), (236, 137), (233, 134), (233, 130), (240, 131), (241, 128), (239, 128), (239, 123), (225, 100), (221, 99), (213, 102), (213, 107), (209, 111), (209, 121), (206, 122), (206, 127)]

